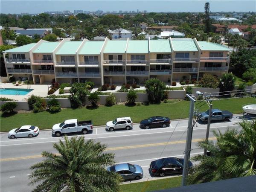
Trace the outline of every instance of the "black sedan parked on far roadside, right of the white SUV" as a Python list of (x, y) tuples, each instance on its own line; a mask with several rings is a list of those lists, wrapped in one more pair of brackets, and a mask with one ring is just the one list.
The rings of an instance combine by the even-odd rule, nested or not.
[(164, 116), (152, 116), (148, 119), (144, 119), (140, 122), (140, 128), (156, 128), (156, 127), (168, 127), (171, 121), (168, 117)]

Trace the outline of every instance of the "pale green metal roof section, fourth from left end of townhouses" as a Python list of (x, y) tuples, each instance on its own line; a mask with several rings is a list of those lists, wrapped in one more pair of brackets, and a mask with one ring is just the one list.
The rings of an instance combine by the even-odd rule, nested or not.
[(104, 41), (85, 41), (79, 55), (99, 55)]

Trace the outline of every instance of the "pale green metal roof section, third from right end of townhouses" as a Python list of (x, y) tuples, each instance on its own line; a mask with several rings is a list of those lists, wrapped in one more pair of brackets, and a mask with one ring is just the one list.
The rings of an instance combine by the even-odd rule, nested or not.
[(149, 40), (150, 52), (172, 52), (168, 39)]

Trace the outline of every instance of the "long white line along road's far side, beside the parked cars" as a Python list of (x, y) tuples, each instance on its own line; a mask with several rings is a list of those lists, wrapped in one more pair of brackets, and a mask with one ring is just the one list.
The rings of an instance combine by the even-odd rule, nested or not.
[[(218, 126), (218, 127), (211, 127), (212, 128), (225, 128), (225, 127), (234, 127), (239, 125), (229, 125), (229, 126)], [(196, 128), (195, 130), (202, 130), (207, 128)], [(90, 139), (105, 139), (105, 138), (113, 138), (113, 137), (129, 137), (129, 136), (138, 136), (138, 135), (148, 135), (148, 134), (162, 134), (162, 133), (170, 133), (170, 132), (179, 132), (179, 131), (186, 131), (186, 129), (183, 130), (176, 130), (176, 131), (160, 131), (160, 132), (153, 132), (153, 133), (143, 133), (143, 134), (130, 134), (130, 135), (116, 135), (116, 136), (108, 136), (108, 137), (91, 137), (91, 138), (84, 138), (84, 140), (90, 140)], [(99, 134), (98, 134), (99, 135)], [(64, 141), (64, 140), (62, 140)], [(39, 144), (39, 143), (54, 143), (58, 142), (58, 140), (55, 141), (44, 141), (44, 142), (36, 142), (36, 143), (17, 143), (17, 144), (10, 144), (10, 145), (0, 145), (0, 147), (4, 146), (14, 146), (14, 145), (31, 145), (31, 144)]]

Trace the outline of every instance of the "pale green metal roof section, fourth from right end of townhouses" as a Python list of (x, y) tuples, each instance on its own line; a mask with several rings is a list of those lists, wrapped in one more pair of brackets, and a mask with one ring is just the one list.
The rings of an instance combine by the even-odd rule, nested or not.
[(127, 53), (148, 53), (148, 41), (132, 40), (128, 42)]

